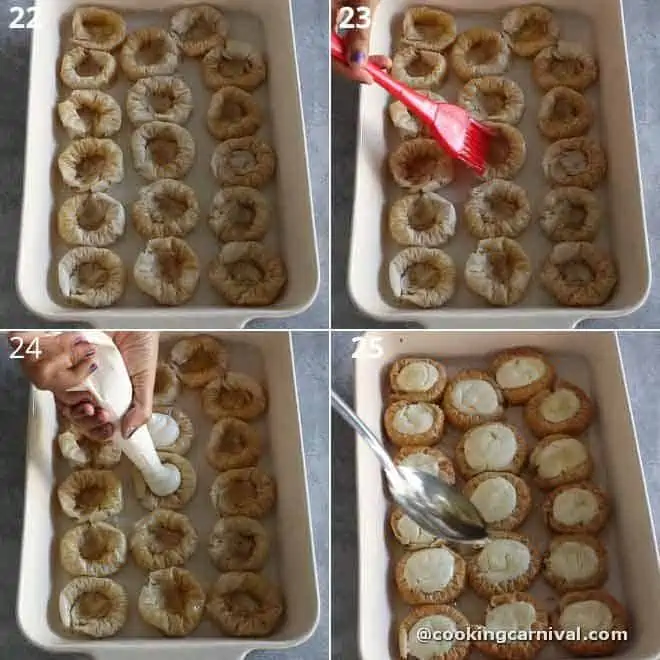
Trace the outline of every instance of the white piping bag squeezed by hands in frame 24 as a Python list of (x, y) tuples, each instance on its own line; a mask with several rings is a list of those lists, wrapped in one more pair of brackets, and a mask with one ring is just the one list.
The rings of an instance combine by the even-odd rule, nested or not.
[[(98, 369), (71, 391), (89, 392), (110, 414), (110, 421), (119, 423), (131, 405), (133, 386), (124, 359), (114, 342), (104, 332), (84, 330), (81, 336), (96, 346)], [(140, 470), (149, 489), (159, 497), (171, 495), (181, 485), (181, 474), (173, 465), (163, 465), (156, 453), (146, 424), (136, 429), (130, 438), (118, 430), (112, 440)]]

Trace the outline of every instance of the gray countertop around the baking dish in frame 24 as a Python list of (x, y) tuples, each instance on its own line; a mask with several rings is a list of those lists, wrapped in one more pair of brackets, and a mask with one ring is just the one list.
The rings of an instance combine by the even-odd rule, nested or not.
[[(302, 646), (278, 653), (255, 652), (249, 655), (250, 660), (310, 660), (326, 658), (329, 653), (328, 336), (324, 332), (295, 333), (293, 345), (321, 591), (321, 619), (313, 637)], [(0, 350), (0, 392), (0, 593), (3, 594), (0, 599), (0, 660), (72, 660), (82, 656), (54, 655), (31, 646), (16, 624), (29, 388), (19, 365), (8, 358), (4, 335)]]

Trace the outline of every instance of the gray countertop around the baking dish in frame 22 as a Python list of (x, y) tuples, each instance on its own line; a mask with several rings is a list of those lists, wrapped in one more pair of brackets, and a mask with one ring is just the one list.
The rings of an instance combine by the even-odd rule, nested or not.
[[(288, 319), (254, 321), (250, 327), (255, 328), (327, 328), (329, 323), (328, 2), (292, 0), (292, 3), (321, 260), (321, 289), (312, 307), (303, 314)], [(28, 312), (19, 301), (14, 286), (23, 195), (30, 31), (9, 29), (16, 16), (9, 9), (33, 4), (31, 0), (0, 0), (0, 89), (3, 101), (0, 104), (0, 318), (4, 327), (13, 328), (53, 325)]]

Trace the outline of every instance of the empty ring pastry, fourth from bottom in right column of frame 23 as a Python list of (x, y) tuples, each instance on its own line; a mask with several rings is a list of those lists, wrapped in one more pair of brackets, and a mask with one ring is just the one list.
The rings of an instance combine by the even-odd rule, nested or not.
[(554, 87), (541, 99), (539, 130), (550, 140), (584, 135), (593, 119), (589, 101), (570, 87)]

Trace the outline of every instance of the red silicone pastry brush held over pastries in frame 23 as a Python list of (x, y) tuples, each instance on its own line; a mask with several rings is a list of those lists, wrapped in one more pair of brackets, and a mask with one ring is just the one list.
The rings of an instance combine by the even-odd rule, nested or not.
[[(332, 56), (347, 64), (344, 44), (336, 32), (332, 33)], [(394, 80), (382, 69), (367, 61), (364, 68), (381, 87), (401, 101), (415, 116), (431, 129), (432, 136), (454, 158), (464, 162), (480, 176), (486, 169), (488, 145), (493, 132), (456, 105), (437, 103), (414, 89)]]

